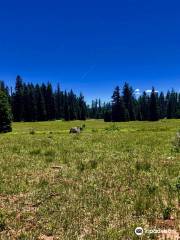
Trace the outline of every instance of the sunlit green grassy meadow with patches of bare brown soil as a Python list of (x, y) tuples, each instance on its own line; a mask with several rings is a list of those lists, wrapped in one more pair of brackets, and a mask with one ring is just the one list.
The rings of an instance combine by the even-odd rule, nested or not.
[[(180, 120), (14, 123), (0, 135), (0, 239), (156, 239), (179, 231)], [(173, 239), (173, 238), (172, 238)]]

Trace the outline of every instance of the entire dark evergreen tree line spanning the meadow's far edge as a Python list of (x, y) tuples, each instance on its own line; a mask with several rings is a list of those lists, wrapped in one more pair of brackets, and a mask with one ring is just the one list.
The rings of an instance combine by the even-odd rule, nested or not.
[(138, 98), (133, 88), (125, 83), (122, 90), (117, 86), (112, 100), (102, 103), (100, 99), (88, 105), (81, 93), (62, 91), (59, 84), (54, 90), (52, 84), (25, 83), (17, 76), (15, 89), (9, 90), (0, 81), (0, 132), (11, 130), (11, 121), (48, 121), (55, 119), (104, 121), (157, 121), (163, 118), (180, 118), (180, 93), (173, 89), (160, 94), (152, 88)]

